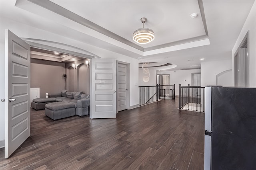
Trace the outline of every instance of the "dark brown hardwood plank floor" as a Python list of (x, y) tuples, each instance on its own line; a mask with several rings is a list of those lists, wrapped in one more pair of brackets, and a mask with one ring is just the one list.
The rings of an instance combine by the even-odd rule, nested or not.
[(53, 121), (31, 110), (31, 136), (0, 169), (203, 170), (204, 113), (178, 110), (178, 99), (120, 111), (116, 119)]

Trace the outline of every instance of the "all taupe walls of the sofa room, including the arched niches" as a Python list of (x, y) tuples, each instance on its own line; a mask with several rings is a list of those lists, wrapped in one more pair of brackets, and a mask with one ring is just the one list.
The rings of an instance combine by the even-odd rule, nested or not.
[(76, 69), (72, 63), (57, 63), (31, 59), (31, 88), (40, 88), (40, 98), (45, 94), (60, 93), (65, 89), (63, 74), (67, 74), (66, 90), (70, 92), (82, 91), (90, 93), (90, 67), (85, 65), (85, 60), (76, 61)]

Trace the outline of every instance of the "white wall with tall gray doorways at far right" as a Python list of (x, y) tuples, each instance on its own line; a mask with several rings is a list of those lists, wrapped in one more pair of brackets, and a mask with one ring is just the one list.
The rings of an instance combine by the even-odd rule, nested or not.
[(242, 27), (242, 30), (232, 49), (232, 84), (234, 85), (234, 53), (249, 31), (249, 86), (256, 87), (256, 1)]

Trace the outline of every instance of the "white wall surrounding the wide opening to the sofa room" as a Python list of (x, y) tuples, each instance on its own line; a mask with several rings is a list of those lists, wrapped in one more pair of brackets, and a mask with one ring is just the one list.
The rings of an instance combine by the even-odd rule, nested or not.
[[(13, 33), (18, 35), (18, 37), (32, 38), (32, 39), (43, 39), (47, 41), (53, 41), (57, 43), (64, 43), (77, 49), (75, 52), (81, 53), (78, 49), (84, 49), (102, 58), (112, 58), (118, 61), (123, 61), (130, 63), (130, 106), (138, 105), (138, 59), (134, 59), (125, 55), (120, 55), (99, 47), (92, 46), (90, 44), (82, 43), (74, 39), (69, 39), (65, 35), (58, 35), (58, 33), (51, 33), (43, 29), (38, 29), (29, 25), (25, 25), (13, 20), (4, 18), (1, 15), (1, 25), (0, 25), (0, 97), (4, 98), (4, 30), (10, 29)], [(42, 42), (44, 45), (50, 45), (52, 47), (57, 47), (60, 49), (65, 49), (61, 44), (49, 44), (47, 42)], [(67, 49), (70, 50), (70, 49)], [(76, 51), (77, 50), (77, 51)], [(0, 141), (4, 140), (4, 102), (0, 102)]]

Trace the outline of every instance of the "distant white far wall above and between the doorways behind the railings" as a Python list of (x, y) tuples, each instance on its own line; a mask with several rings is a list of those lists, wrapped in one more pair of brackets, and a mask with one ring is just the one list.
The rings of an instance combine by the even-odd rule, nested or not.
[(200, 69), (161, 71), (160, 74), (170, 74), (171, 85), (175, 84), (175, 96), (179, 95), (179, 84), (181, 86), (192, 86), (192, 73), (199, 73)]

